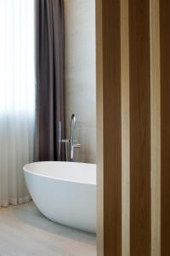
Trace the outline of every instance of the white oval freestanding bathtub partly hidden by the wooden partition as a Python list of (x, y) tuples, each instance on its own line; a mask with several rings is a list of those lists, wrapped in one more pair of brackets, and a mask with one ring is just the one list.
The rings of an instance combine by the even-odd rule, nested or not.
[(47, 218), (96, 232), (96, 165), (36, 162), (23, 167), (32, 200)]

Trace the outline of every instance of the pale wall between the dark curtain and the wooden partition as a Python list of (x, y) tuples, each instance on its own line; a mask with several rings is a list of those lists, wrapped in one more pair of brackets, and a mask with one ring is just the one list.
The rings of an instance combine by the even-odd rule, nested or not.
[(65, 113), (77, 116), (76, 161), (96, 161), (95, 0), (65, 0)]

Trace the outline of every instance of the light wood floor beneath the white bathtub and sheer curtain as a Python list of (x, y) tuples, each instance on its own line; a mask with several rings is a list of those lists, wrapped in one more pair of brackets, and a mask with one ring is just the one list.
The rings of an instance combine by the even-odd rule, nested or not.
[(33, 203), (0, 208), (0, 256), (96, 256), (95, 236), (44, 218)]

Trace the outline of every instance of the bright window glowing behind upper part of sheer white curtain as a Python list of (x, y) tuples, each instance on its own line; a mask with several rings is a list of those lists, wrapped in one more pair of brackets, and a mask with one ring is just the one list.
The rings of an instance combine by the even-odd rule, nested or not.
[(34, 0), (0, 0), (0, 113), (34, 112)]

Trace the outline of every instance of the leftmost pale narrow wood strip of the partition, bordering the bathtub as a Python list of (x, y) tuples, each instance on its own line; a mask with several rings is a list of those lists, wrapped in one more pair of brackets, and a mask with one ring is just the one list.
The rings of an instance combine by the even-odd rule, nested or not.
[(97, 255), (104, 256), (104, 122), (102, 2), (96, 0)]

